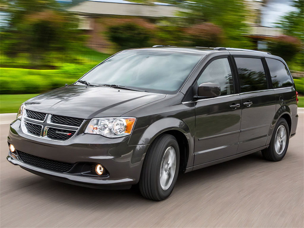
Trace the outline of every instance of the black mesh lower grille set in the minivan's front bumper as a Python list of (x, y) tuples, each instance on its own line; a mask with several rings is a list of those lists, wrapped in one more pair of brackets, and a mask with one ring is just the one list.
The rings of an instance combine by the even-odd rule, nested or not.
[(20, 156), (21, 160), (27, 164), (57, 171), (57, 172), (67, 172), (74, 166), (74, 164), (71, 163), (65, 163), (61, 161), (55, 161), (42, 157), (37, 157), (34, 155), (23, 153), (21, 151), (18, 151), (18, 155)]

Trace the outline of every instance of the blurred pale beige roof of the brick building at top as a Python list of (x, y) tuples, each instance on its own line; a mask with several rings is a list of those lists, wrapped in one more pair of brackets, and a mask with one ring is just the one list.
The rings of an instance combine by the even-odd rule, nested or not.
[(125, 0), (94, 0), (81, 2), (68, 9), (80, 15), (122, 15), (142, 17), (176, 17), (181, 8), (170, 4), (155, 2), (154, 5), (144, 5)]

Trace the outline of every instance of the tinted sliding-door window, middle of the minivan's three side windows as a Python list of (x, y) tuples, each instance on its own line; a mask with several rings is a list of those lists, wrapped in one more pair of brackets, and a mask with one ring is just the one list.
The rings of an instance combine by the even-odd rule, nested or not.
[(241, 92), (267, 89), (267, 81), (261, 59), (235, 58), (240, 77)]

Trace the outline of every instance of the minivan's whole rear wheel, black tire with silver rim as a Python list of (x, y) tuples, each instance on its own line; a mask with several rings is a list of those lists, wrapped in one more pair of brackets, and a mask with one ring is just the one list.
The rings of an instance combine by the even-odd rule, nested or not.
[(262, 155), (270, 161), (280, 161), (285, 156), (289, 144), (289, 127), (284, 118), (278, 120), (273, 131), (269, 147), (262, 150)]

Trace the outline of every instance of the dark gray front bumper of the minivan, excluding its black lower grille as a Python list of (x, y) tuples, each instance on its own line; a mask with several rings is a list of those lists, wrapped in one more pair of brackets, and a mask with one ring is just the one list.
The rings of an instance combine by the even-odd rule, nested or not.
[[(81, 131), (80, 131), (81, 132)], [(102, 189), (128, 189), (139, 181), (148, 145), (128, 145), (129, 137), (109, 139), (100, 135), (75, 134), (69, 140), (45, 140), (22, 132), (20, 121), (10, 126), (8, 143), (16, 148), (7, 160), (21, 168), (57, 181)], [(71, 164), (102, 164), (108, 175), (60, 172), (22, 161), (18, 151), (39, 158)]]

